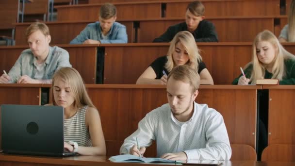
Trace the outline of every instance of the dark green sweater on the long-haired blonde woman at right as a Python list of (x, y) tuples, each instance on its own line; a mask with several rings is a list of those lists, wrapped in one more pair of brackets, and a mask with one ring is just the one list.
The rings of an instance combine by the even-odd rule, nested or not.
[[(285, 77), (279, 81), (280, 85), (294, 85), (295, 84), (295, 60), (294, 59), (286, 59), (284, 61), (285, 66), (286, 66), (286, 75)], [(249, 65), (246, 69), (245, 69), (245, 75), (246, 78), (250, 78), (251, 77), (251, 72), (253, 69), (253, 65)], [(232, 84), (237, 85), (239, 82), (239, 78), (242, 76), (242, 74), (235, 78), (232, 82)], [(267, 70), (265, 70), (265, 74), (264, 74), (264, 79), (271, 79), (271, 77), (273, 76), (272, 73), (268, 72)], [(250, 84), (250, 83), (249, 83)]]

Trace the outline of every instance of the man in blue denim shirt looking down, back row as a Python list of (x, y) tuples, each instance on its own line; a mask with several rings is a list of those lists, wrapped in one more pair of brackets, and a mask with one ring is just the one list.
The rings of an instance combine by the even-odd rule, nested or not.
[(116, 7), (105, 3), (99, 10), (99, 21), (88, 24), (70, 44), (127, 43), (126, 27), (116, 20)]

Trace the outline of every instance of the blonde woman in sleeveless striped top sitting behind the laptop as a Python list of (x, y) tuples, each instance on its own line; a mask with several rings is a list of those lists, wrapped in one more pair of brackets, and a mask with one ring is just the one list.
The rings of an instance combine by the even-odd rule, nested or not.
[(98, 110), (90, 100), (79, 72), (58, 70), (52, 79), (53, 105), (64, 107), (65, 149), (81, 155), (106, 155)]

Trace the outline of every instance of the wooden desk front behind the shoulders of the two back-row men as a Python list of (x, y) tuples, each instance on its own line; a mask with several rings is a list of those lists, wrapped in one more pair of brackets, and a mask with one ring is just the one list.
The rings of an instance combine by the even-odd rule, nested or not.
[[(76, 5), (72, 5), (76, 6)], [(218, 16), (206, 17), (211, 21), (218, 34), (219, 42), (252, 42), (257, 33), (263, 30), (274, 32), (276, 16)], [(68, 44), (87, 24), (98, 19), (67, 20), (45, 22), (50, 30), (51, 44)], [(147, 43), (163, 34), (169, 26), (184, 22), (184, 17), (119, 19), (126, 26), (128, 42)], [(31, 23), (17, 23), (16, 45), (26, 44), (25, 31)], [(280, 31), (283, 25), (276, 25)], [(243, 33), (241, 33), (243, 32)]]

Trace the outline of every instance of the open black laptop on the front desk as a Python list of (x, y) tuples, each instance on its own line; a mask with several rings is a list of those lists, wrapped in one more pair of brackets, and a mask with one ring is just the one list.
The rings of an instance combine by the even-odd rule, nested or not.
[(64, 151), (64, 108), (3, 104), (1, 144), (4, 153), (70, 156)]

